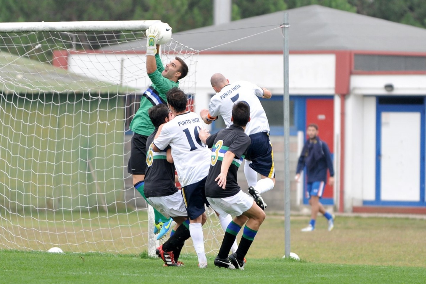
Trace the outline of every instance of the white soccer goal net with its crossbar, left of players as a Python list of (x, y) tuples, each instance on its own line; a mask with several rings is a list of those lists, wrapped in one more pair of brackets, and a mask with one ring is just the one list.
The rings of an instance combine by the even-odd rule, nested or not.
[[(127, 161), (130, 121), (150, 85), (144, 30), (155, 22), (2, 23), (0, 249), (152, 250)], [(161, 47), (164, 64), (179, 56), (189, 67), (180, 87), (190, 108), (197, 55), (173, 40)], [(216, 252), (223, 231), (209, 215), (205, 249)]]

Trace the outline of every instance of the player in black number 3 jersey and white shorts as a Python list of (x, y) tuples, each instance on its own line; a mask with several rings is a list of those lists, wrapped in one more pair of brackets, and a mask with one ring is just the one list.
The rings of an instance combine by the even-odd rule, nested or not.
[[(199, 132), (201, 141), (212, 148), (210, 170), (205, 185), (207, 201), (219, 215), (236, 216), (228, 225), (219, 254), (214, 260), (216, 266), (229, 269), (244, 269), (245, 255), (266, 217), (265, 212), (237, 183), (238, 168), (251, 143), (244, 133), (249, 120), (250, 106), (240, 101), (232, 108), (233, 124), (229, 128), (211, 136), (206, 130)], [(236, 235), (244, 224), (238, 249), (228, 256)]]

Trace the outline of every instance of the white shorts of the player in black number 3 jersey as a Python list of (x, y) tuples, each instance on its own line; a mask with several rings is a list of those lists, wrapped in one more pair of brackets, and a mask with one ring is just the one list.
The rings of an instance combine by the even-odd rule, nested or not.
[(236, 195), (224, 198), (207, 197), (210, 206), (219, 213), (219, 215), (241, 216), (253, 206), (253, 198), (240, 190)]

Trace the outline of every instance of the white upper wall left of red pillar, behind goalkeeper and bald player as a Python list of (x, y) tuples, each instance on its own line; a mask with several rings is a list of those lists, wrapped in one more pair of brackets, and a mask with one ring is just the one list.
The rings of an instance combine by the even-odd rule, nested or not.
[[(163, 59), (167, 63), (169, 59)], [(190, 66), (196, 71), (196, 91), (200, 96), (211, 92), (210, 77), (222, 73), (230, 81), (247, 80), (282, 94), (284, 88), (283, 56), (280, 54), (256, 55), (198, 55), (198, 62)], [(96, 77), (113, 83), (129, 84), (140, 89), (149, 85), (143, 54), (70, 54), (70, 72)], [(290, 55), (289, 87), (291, 94), (330, 95), (335, 86), (334, 54)], [(193, 70), (191, 70), (193, 69)], [(185, 79), (182, 80), (185, 82)]]

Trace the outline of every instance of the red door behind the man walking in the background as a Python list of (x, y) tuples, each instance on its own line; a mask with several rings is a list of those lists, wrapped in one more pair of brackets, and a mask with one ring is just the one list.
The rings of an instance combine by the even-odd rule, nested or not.
[[(334, 100), (333, 99), (307, 99), (306, 100), (306, 126), (309, 123), (318, 125), (318, 136), (327, 143), (333, 157), (334, 149)], [(335, 171), (336, 169), (334, 169)], [(330, 173), (327, 174), (327, 183)], [(305, 195), (306, 196), (306, 195)], [(331, 198), (333, 201), (333, 187), (325, 186), (322, 199)], [(325, 202), (328, 204), (329, 202)], [(333, 203), (331, 203), (333, 204)]]

